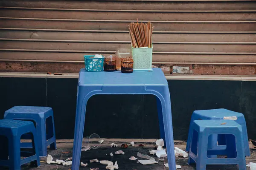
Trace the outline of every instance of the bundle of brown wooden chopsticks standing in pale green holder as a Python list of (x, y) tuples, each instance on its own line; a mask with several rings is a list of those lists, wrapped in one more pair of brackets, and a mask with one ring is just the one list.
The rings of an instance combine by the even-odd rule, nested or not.
[(152, 23), (130, 23), (129, 31), (133, 48), (152, 47)]

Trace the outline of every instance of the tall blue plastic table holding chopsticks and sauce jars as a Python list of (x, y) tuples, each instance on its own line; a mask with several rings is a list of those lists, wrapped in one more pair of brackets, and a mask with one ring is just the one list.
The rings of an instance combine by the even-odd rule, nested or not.
[(120, 71), (87, 72), (82, 68), (78, 80), (72, 170), (78, 170), (80, 166), (86, 104), (88, 99), (96, 94), (153, 94), (157, 96), (160, 135), (167, 147), (169, 169), (176, 169), (170, 93), (161, 69), (154, 68), (152, 72), (123, 74)]

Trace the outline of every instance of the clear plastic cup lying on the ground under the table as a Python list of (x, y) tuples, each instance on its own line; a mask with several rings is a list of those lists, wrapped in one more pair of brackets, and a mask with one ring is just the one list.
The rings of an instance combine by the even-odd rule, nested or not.
[(98, 149), (101, 145), (100, 143), (101, 139), (98, 134), (93, 133), (90, 136), (86, 136), (83, 139), (82, 147), (85, 148), (92, 148), (92, 149)]

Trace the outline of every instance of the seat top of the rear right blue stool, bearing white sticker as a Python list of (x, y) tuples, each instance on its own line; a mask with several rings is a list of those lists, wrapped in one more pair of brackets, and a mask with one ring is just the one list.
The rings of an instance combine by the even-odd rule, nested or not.
[(242, 113), (229, 111), (227, 109), (211, 109), (211, 110), (199, 110), (194, 111), (195, 114), (200, 114), (206, 117), (214, 117), (223, 119), (224, 116), (243, 116)]

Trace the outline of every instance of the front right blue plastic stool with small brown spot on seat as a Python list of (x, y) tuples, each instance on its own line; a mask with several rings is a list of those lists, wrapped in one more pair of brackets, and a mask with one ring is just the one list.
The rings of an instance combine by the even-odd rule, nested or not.
[[(233, 120), (195, 120), (192, 125), (192, 144), (189, 146), (188, 163), (196, 162), (196, 170), (205, 170), (207, 164), (238, 164), (239, 170), (246, 170), (243, 131)], [(208, 148), (208, 137), (212, 134), (225, 134), (226, 150)], [(236, 145), (232, 144), (233, 140)], [(230, 144), (231, 143), (231, 144)], [(227, 158), (209, 158), (208, 155), (227, 155)]]

